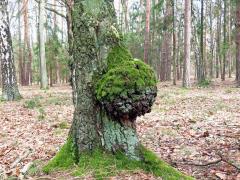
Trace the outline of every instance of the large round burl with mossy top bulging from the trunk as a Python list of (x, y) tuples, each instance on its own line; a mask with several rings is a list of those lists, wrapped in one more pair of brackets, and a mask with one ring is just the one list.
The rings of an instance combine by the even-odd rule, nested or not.
[(149, 113), (157, 96), (152, 68), (119, 45), (110, 51), (107, 62), (107, 72), (96, 84), (96, 97), (108, 115), (126, 124)]

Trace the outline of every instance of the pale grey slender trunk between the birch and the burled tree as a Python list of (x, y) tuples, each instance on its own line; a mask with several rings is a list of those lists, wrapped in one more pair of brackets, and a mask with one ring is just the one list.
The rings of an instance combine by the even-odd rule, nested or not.
[(47, 77), (47, 65), (45, 57), (45, 0), (39, 1), (39, 47), (40, 47), (40, 77), (41, 77), (41, 88), (48, 88), (48, 77)]

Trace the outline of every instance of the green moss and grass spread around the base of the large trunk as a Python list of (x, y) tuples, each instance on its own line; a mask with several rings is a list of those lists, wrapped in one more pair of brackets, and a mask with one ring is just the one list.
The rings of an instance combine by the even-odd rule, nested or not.
[(106, 179), (120, 173), (144, 171), (166, 180), (193, 179), (182, 174), (153, 152), (142, 147), (143, 161), (129, 160), (123, 153), (111, 154), (101, 149), (85, 152), (80, 155), (75, 165), (72, 143), (69, 140), (59, 153), (43, 168), (45, 173), (57, 170), (73, 169), (73, 176), (93, 175), (95, 179)]

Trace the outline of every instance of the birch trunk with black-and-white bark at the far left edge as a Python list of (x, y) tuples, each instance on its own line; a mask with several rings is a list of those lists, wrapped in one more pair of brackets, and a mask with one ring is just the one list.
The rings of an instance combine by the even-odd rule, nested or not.
[(9, 29), (7, 0), (0, 2), (0, 55), (2, 73), (2, 98), (12, 101), (21, 98), (16, 79), (12, 39)]

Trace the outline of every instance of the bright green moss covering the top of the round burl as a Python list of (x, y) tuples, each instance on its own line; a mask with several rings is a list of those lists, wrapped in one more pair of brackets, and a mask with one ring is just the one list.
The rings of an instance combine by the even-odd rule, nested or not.
[(157, 80), (152, 68), (141, 60), (132, 59), (123, 46), (114, 47), (107, 60), (109, 71), (96, 85), (99, 101), (112, 101), (116, 97), (156, 86)]

